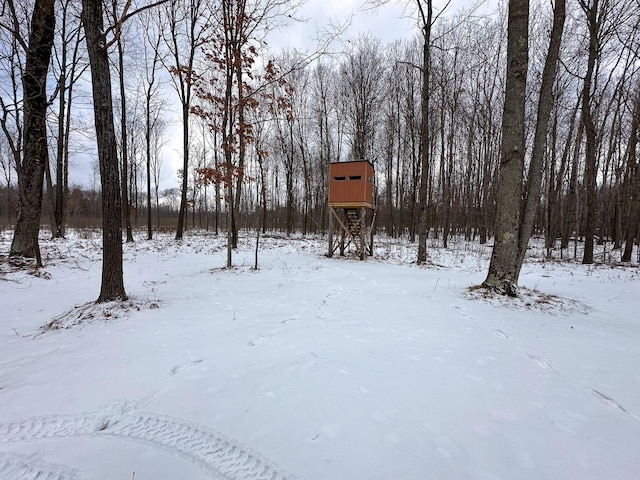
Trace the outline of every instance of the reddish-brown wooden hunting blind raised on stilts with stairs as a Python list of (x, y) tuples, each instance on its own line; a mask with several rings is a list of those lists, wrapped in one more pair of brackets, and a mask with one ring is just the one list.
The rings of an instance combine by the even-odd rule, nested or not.
[[(366, 161), (329, 165), (329, 253), (350, 245), (364, 260), (373, 255), (374, 171)], [(337, 228), (336, 228), (337, 227)], [(340, 237), (334, 242), (334, 234)], [(337, 240), (337, 238), (336, 238)]]

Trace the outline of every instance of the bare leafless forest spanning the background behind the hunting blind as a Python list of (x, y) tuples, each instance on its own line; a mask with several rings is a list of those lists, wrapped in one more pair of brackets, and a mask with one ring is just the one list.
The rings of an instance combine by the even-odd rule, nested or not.
[[(16, 165), (22, 161), (20, 73), (25, 45), (12, 29), (28, 37), (32, 3), (2, 1), (0, 213), (6, 227), (15, 218)], [(175, 222), (178, 238), (189, 225), (218, 231), (229, 222), (241, 229), (323, 232), (329, 163), (368, 160), (376, 169), (378, 233), (415, 241), (424, 178), (432, 237), (446, 246), (451, 235), (481, 243), (492, 236), (506, 8), (484, 16), (463, 11), (430, 24), (430, 163), (425, 169), (421, 35), (383, 44), (372, 32), (323, 44), (311, 54), (293, 48), (270, 52), (265, 35), (288, 12), (295, 12), (295, 2), (253, 2), (242, 16), (228, 17), (235, 19), (235, 27), (224, 28), (219, 23), (224, 12), (217, 4), (172, 0), (122, 23), (114, 37), (109, 53), (115, 67), (111, 81), (125, 227), (146, 224), (151, 235), (153, 228)], [(117, 24), (125, 2), (106, 5), (106, 16)], [(20, 21), (7, 28), (6, 12), (11, 9)], [(74, 159), (95, 148), (90, 144), (95, 134), (87, 114), (90, 86), (79, 2), (56, 2), (56, 16), (42, 223), (50, 225), (54, 236), (63, 236), (67, 225), (87, 225), (99, 218), (101, 205), (99, 184), (78, 186), (73, 180)], [(550, 3), (532, 2), (530, 19), (529, 149), (549, 41)], [(584, 238), (588, 221), (595, 225), (597, 241), (627, 249), (637, 242), (639, 19), (635, 1), (568, 2), (546, 134), (542, 199), (534, 222), (534, 232), (546, 238), (549, 255), (572, 239)], [(232, 72), (221, 53), (229, 34), (237, 35), (242, 52)], [(589, 128), (583, 108), (587, 81)], [(186, 168), (180, 172), (180, 185), (160, 191), (161, 169), (167, 168), (163, 150), (175, 148), (168, 146), (167, 124), (175, 120), (176, 110), (186, 139), (180, 152)], [(590, 141), (595, 175), (586, 161)], [(596, 179), (596, 209), (591, 211), (589, 175)], [(232, 215), (227, 218), (225, 212)], [(627, 260), (630, 255), (629, 250)]]

